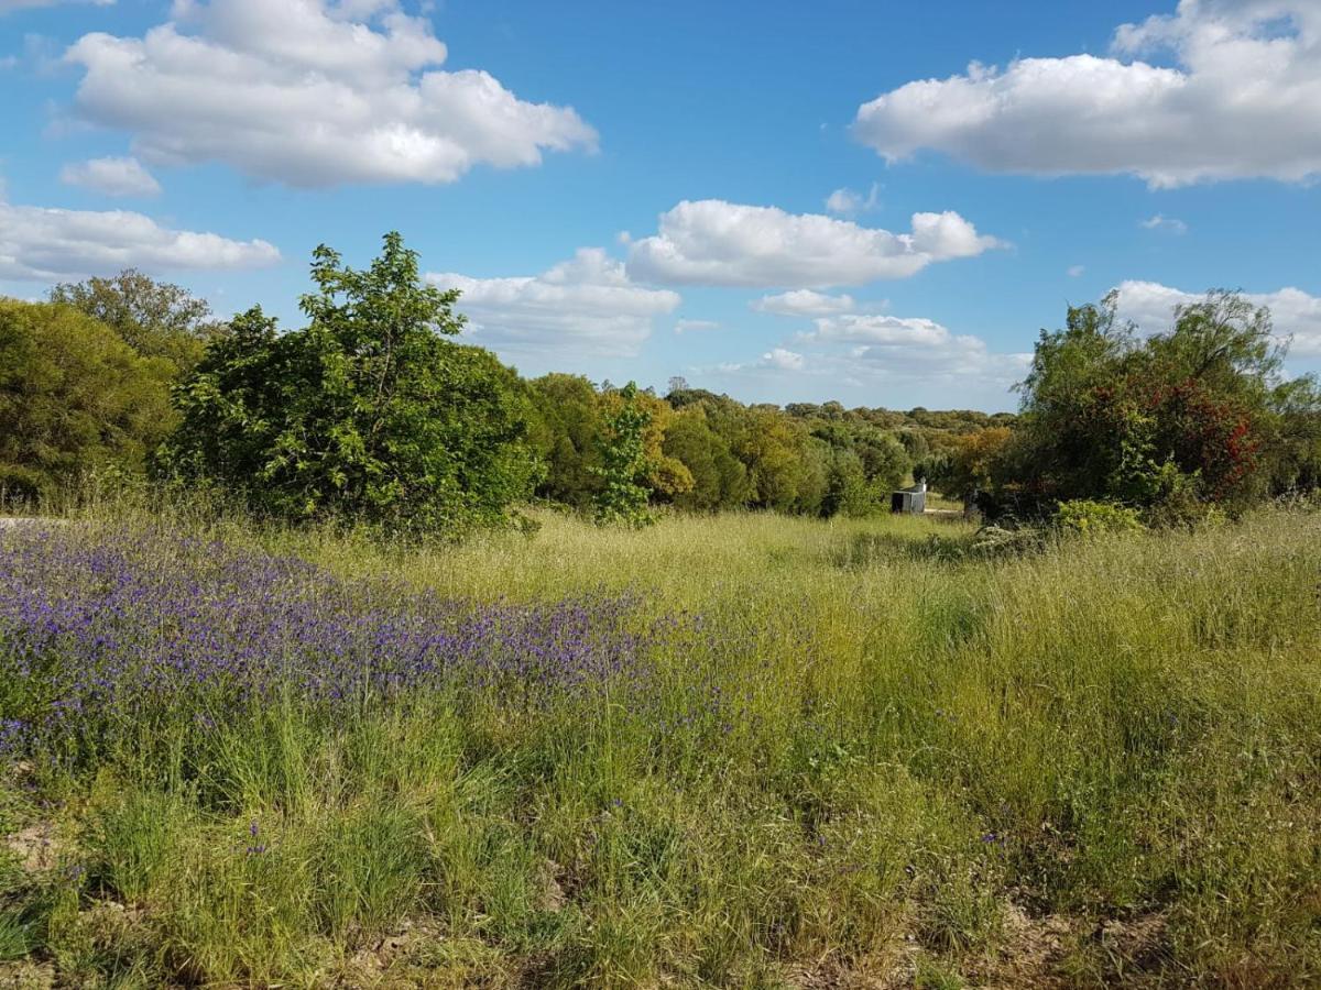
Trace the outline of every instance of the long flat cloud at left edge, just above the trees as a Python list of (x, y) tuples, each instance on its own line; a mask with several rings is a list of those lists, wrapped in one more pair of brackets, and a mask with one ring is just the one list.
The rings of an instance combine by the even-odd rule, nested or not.
[(259, 268), (280, 252), (264, 240), (161, 227), (125, 210), (50, 210), (0, 199), (0, 279), (53, 281), (122, 268)]

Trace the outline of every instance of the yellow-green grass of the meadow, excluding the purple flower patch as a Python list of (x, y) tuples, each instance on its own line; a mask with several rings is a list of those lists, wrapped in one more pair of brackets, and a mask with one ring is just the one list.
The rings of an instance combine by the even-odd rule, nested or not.
[(921, 517), (540, 521), (417, 552), (206, 525), (441, 594), (700, 615), (650, 714), (291, 700), (192, 779), (165, 742), (100, 783), (41, 768), (59, 808), (15, 779), (9, 825), (54, 814), (86, 869), (11, 882), (37, 952), (89, 985), (1321, 981), (1321, 516), (1008, 560)]

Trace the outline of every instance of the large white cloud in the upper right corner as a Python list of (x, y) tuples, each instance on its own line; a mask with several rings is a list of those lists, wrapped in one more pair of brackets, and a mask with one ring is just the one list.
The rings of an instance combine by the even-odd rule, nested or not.
[(989, 172), (1136, 174), (1153, 187), (1321, 176), (1316, 0), (1181, 0), (1119, 28), (1112, 51), (910, 82), (864, 103), (853, 133), (889, 161), (927, 148)]

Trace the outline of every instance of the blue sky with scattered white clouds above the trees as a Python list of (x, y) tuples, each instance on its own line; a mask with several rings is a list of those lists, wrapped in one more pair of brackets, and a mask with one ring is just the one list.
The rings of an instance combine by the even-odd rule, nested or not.
[(1008, 409), (1067, 304), (1213, 286), (1321, 370), (1316, 0), (0, 0), (0, 87), (18, 297), (293, 326), (399, 230), (524, 374)]

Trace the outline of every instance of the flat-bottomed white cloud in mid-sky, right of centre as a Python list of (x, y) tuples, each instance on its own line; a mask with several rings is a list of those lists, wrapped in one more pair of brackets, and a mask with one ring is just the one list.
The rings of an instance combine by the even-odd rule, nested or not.
[(997, 244), (952, 211), (913, 214), (910, 234), (892, 234), (774, 206), (686, 199), (660, 215), (657, 235), (631, 244), (629, 275), (654, 282), (824, 288), (906, 279), (933, 261)]

